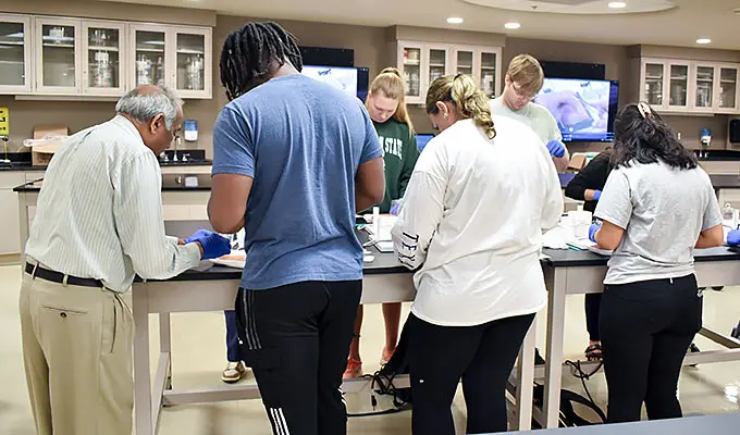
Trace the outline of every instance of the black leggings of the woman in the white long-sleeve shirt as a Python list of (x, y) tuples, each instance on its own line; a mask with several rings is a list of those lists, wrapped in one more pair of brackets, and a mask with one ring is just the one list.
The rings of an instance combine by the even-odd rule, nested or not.
[(409, 316), (415, 435), (454, 435), (452, 403), (462, 378), (467, 434), (507, 431), (506, 382), (534, 314), (477, 326), (439, 326)]

